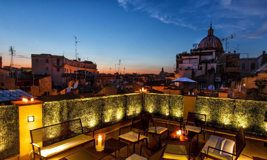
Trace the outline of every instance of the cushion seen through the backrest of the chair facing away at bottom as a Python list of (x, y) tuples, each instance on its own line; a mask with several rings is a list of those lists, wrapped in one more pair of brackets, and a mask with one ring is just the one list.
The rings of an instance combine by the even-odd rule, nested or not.
[[(165, 144), (162, 144), (164, 146)], [(172, 154), (173, 153), (173, 154)], [(184, 154), (184, 155), (178, 155)], [(188, 160), (186, 148), (183, 145), (167, 144), (162, 158)]]

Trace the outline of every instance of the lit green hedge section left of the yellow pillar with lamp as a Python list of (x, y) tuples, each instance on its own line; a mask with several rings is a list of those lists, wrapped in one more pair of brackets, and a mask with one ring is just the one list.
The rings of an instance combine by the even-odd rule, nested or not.
[(0, 106), (0, 159), (17, 154), (19, 154), (18, 107)]

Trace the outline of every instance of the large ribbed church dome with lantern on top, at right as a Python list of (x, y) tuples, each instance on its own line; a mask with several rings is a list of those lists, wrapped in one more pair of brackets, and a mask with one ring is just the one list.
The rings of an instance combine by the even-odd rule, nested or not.
[(211, 28), (208, 30), (208, 36), (203, 38), (198, 44), (198, 49), (223, 49), (221, 40), (213, 35), (214, 30)]

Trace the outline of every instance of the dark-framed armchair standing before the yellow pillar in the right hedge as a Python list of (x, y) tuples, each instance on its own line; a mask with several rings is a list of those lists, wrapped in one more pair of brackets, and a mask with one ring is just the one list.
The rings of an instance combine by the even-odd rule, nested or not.
[[(186, 120), (186, 126), (185, 128), (189, 131), (196, 132), (197, 133), (197, 145), (198, 145), (198, 134), (202, 134), (204, 136), (205, 140), (205, 126), (206, 126), (206, 117), (207, 115), (200, 114), (200, 113), (194, 113), (194, 112), (188, 112), (187, 119)], [(191, 124), (193, 123), (194, 126), (188, 125), (188, 122)], [(197, 127), (195, 125), (200, 125), (201, 127)]]

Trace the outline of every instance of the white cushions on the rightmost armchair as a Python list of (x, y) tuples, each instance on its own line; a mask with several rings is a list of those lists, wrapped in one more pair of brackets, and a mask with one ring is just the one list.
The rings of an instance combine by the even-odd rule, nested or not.
[[(207, 154), (208, 146), (210, 146), (233, 153), (234, 144), (233, 140), (211, 135), (201, 152)], [(223, 160), (232, 159), (232, 155), (211, 148), (209, 149), (209, 155)]]

